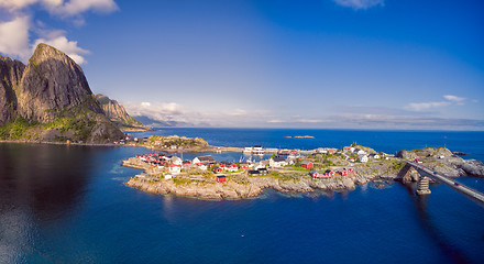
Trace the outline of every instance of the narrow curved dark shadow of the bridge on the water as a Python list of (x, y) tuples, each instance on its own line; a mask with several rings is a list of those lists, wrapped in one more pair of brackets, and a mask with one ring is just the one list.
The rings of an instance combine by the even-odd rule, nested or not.
[[(432, 218), (427, 209), (428, 196), (417, 196), (415, 195), (415, 189), (417, 184), (402, 184), (413, 198), (414, 205), (417, 209), (417, 218), (421, 222), (425, 231), (428, 235), (436, 242), (439, 249), (454, 263), (472, 263), (469, 257), (465, 256), (463, 252), (453, 246), (446, 237), (439, 231), (439, 229), (432, 223)], [(420, 249), (426, 250), (426, 249)]]

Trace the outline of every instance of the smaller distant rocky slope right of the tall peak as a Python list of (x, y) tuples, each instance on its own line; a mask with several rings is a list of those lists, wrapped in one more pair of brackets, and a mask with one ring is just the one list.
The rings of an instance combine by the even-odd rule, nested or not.
[(140, 121), (131, 117), (117, 100), (112, 100), (105, 95), (97, 95), (96, 98), (101, 105), (105, 114), (121, 129), (150, 130), (150, 128), (144, 127)]

